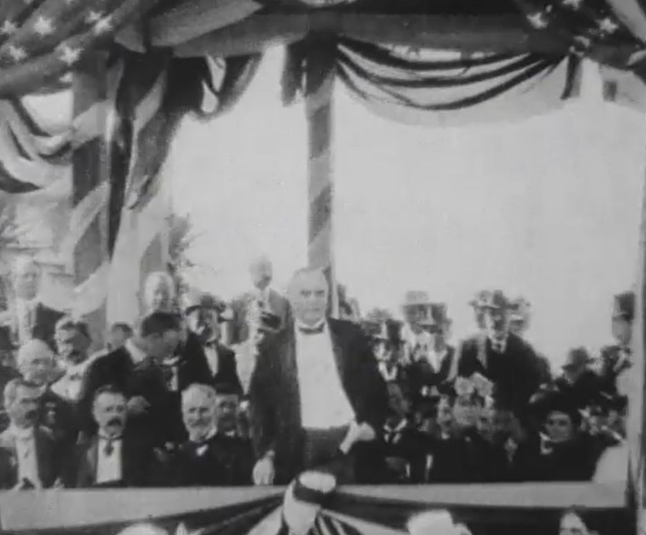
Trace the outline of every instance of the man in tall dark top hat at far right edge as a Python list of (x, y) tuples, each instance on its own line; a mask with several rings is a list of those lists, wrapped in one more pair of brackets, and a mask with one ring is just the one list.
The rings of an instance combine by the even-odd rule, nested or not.
[(627, 395), (624, 379), (632, 367), (632, 323), (635, 317), (635, 294), (623, 292), (614, 296), (612, 336), (616, 343), (603, 347), (600, 354), (600, 376), (603, 390)]

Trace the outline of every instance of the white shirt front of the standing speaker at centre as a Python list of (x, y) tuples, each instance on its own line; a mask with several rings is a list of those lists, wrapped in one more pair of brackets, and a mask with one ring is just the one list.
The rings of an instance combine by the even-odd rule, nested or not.
[(354, 410), (336, 367), (327, 325), (316, 334), (303, 334), (296, 327), (296, 367), (303, 427), (330, 429), (348, 425), (354, 420)]

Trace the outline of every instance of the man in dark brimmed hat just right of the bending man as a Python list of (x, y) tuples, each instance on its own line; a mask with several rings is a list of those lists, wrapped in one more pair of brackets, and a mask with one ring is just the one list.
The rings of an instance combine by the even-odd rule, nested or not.
[(211, 385), (227, 384), (242, 394), (236, 356), (220, 341), (223, 310), (223, 303), (210, 294), (190, 292), (186, 296), (184, 314), (188, 328), (194, 334), (194, 339), (203, 347), (208, 363), (207, 374), (203, 376), (202, 381), (197, 381), (195, 378), (193, 382), (208, 382)]

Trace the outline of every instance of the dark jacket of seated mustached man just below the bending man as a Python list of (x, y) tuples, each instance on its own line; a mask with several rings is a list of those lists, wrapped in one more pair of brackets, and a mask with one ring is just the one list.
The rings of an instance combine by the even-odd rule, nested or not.
[(163, 470), (156, 462), (152, 444), (139, 433), (126, 432), (121, 445), (121, 481), (97, 485), (98, 447), (96, 434), (77, 445), (65, 470), (65, 487), (148, 487), (160, 483)]

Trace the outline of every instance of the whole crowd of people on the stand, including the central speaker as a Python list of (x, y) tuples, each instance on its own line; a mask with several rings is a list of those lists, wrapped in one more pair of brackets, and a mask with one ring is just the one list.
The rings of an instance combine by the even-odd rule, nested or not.
[(478, 293), (474, 334), (454, 346), (425, 292), (407, 293), (403, 321), (335, 319), (320, 270), (297, 271), (287, 297), (267, 259), (250, 273), (232, 303), (151, 274), (141, 319), (92, 352), (88, 325), (41, 303), (38, 265), (17, 262), (0, 313), (0, 488), (282, 485), (313, 469), (590, 481), (623, 458), (631, 292), (615, 297), (614, 343), (574, 347), (556, 372), (524, 338), (529, 303), (500, 290)]

